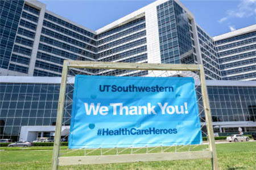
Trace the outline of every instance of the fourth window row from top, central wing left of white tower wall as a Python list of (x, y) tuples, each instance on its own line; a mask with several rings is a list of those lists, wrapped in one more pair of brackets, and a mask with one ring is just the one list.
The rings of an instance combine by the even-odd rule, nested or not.
[(143, 39), (140, 39), (140, 40), (129, 42), (125, 45), (118, 46), (118, 47), (110, 49), (110, 50), (106, 50), (105, 52), (99, 53), (97, 55), (98, 55), (98, 58), (100, 58), (100, 57), (108, 56), (110, 54), (121, 52), (121, 51), (129, 49), (129, 48), (133, 48), (135, 46), (143, 45), (143, 44), (146, 44), (146, 43), (147, 43), (146, 38), (143, 38)]

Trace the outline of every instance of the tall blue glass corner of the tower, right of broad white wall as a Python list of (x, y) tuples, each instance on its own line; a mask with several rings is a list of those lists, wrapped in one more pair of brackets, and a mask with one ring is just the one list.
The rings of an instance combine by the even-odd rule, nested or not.
[(165, 2), (156, 8), (161, 62), (196, 63), (195, 44), (187, 12), (175, 1)]

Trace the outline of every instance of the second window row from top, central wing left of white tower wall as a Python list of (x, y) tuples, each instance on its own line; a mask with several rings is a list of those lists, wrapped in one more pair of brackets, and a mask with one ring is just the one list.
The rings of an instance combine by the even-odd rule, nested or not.
[(115, 33), (114, 35), (111, 35), (111, 36), (108, 36), (106, 37), (105, 39), (101, 39), (101, 40), (98, 40), (97, 41), (97, 45), (101, 45), (101, 44), (104, 44), (106, 42), (109, 42), (109, 41), (112, 41), (114, 39), (118, 39), (119, 37), (123, 37), (123, 36), (126, 36), (126, 35), (129, 35), (133, 32), (137, 32), (141, 29), (144, 29), (146, 28), (146, 24), (143, 23), (143, 24), (139, 24), (135, 27), (132, 27), (132, 28), (129, 28), (129, 29), (125, 29), (125, 31), (121, 31), (121, 32), (118, 32), (118, 33)]

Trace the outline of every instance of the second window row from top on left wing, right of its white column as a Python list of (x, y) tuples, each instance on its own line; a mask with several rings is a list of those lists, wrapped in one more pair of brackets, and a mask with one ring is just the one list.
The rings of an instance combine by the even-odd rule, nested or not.
[(79, 40), (88, 42), (89, 44), (96, 45), (96, 41), (95, 41), (95, 40), (89, 39), (88, 37), (82, 36), (82, 35), (80, 35), (79, 33), (76, 33), (76, 32), (70, 31), (70, 30), (68, 30), (68, 29), (66, 29), (66, 28), (60, 27), (59, 25), (53, 24), (53, 23), (51, 23), (51, 22), (48, 22), (47, 20), (44, 20), (44, 21), (43, 21), (43, 25), (44, 25), (45, 27), (54, 29), (54, 30), (56, 30), (57, 32), (61, 32), (61, 33), (64, 33), (64, 34), (66, 34), (66, 35), (75, 37), (76, 39), (79, 39)]

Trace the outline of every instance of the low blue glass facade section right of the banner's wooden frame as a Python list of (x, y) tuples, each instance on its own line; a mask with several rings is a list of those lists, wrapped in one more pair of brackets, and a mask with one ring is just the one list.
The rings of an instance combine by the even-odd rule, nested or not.
[(256, 87), (208, 86), (207, 90), (213, 122), (256, 121)]

